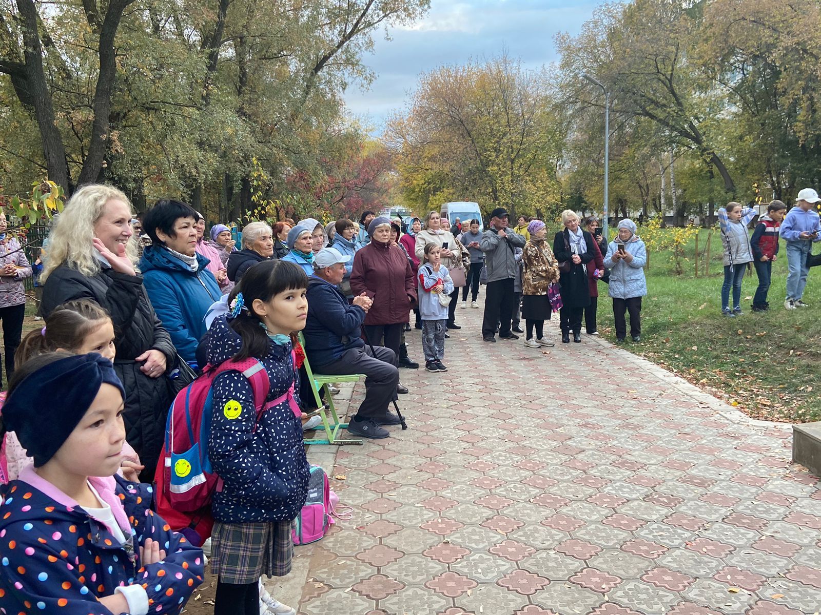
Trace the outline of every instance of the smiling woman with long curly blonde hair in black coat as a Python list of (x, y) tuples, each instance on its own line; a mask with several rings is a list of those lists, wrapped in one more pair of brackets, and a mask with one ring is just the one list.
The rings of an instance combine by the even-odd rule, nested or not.
[[(172, 397), (166, 373), (176, 364), (171, 336), (135, 271), (131, 204), (120, 190), (86, 185), (66, 203), (49, 238), (41, 310), (87, 298), (114, 323), (114, 371), (126, 390), (126, 440), (140, 455), (140, 480), (154, 477)], [(89, 225), (91, 228), (89, 228)]]

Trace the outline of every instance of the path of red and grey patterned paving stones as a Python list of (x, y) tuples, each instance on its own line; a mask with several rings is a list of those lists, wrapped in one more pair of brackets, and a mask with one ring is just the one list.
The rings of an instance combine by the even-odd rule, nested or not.
[(300, 613), (817, 615), (821, 484), (787, 426), (601, 340), (487, 344), (456, 313), (450, 371), (401, 371), (410, 429), (339, 449), (354, 514), (297, 548)]

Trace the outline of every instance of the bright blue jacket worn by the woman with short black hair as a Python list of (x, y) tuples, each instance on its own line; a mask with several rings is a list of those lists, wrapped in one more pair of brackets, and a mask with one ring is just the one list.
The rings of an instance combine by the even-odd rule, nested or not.
[(145, 248), (140, 260), (143, 284), (157, 316), (163, 321), (177, 353), (196, 362), (197, 344), (205, 335), (205, 312), (222, 297), (216, 278), (206, 266), (208, 259), (197, 254), (197, 271), (162, 246)]

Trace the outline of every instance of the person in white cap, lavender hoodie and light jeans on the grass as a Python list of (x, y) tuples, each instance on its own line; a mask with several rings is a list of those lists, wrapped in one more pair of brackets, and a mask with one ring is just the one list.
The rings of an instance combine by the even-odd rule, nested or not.
[(796, 197), (796, 207), (792, 207), (781, 223), (779, 235), (787, 242), (787, 298), (784, 307), (794, 310), (796, 307), (809, 307), (801, 301), (807, 285), (810, 267), (807, 266), (807, 255), (814, 241), (821, 241), (821, 225), (817, 203), (821, 202), (819, 194), (812, 188), (800, 190)]

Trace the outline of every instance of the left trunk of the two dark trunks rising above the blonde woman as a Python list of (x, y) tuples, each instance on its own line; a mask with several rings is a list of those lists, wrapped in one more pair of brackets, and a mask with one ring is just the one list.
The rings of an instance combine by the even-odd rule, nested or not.
[[(34, 117), (37, 120), (40, 140), (43, 144), (48, 179), (61, 185), (68, 196), (71, 194), (73, 185), (68, 171), (66, 148), (62, 143), (60, 130), (57, 129), (51, 92), (48, 91), (46, 83), (43, 46), (37, 30), (37, 9), (32, 0), (17, 0), (17, 9), (20, 11), (23, 33), (26, 89), (34, 105)], [(19, 95), (18, 98), (20, 98)], [(25, 103), (22, 98), (21, 103)]]

